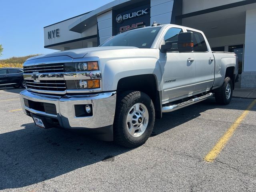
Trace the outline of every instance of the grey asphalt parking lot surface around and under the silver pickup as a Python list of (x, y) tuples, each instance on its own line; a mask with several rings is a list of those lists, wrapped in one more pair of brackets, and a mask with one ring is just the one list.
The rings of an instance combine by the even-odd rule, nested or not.
[[(66, 130), (36, 127), (20, 110), (21, 90), (0, 89), (0, 190), (256, 189), (256, 105), (241, 118), (253, 99), (233, 98), (228, 106), (220, 106), (210, 98), (164, 114), (146, 144), (126, 149)], [(216, 159), (207, 162), (207, 154), (232, 126), (234, 134)]]

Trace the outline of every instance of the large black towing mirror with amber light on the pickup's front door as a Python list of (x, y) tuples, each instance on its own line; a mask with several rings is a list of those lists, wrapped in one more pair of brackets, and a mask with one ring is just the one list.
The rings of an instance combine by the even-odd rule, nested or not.
[(192, 52), (194, 50), (194, 42), (192, 40), (193, 32), (184, 32), (178, 34), (178, 51)]

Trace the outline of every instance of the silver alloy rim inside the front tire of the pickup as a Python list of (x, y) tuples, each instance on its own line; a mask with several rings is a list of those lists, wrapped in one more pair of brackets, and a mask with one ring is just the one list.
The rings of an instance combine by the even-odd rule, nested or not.
[(126, 128), (133, 137), (141, 136), (148, 126), (148, 109), (142, 103), (136, 103), (127, 114)]

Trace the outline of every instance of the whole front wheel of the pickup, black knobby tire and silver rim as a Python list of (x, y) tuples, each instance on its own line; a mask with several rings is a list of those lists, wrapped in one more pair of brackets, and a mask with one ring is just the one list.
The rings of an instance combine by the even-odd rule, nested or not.
[(125, 91), (118, 95), (116, 104), (114, 142), (126, 148), (141, 146), (154, 128), (155, 109), (152, 100), (143, 92)]

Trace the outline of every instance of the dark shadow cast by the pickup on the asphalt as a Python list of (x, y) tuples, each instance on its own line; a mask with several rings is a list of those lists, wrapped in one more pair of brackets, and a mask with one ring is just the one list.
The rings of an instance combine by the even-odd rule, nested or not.
[[(152, 136), (212, 108), (216, 108), (216, 103), (208, 100), (164, 114), (161, 120), (156, 120)], [(34, 123), (21, 127), (0, 134), (0, 190), (36, 184), (97, 162), (114, 164), (115, 156), (132, 150), (67, 130), (37, 128)]]

